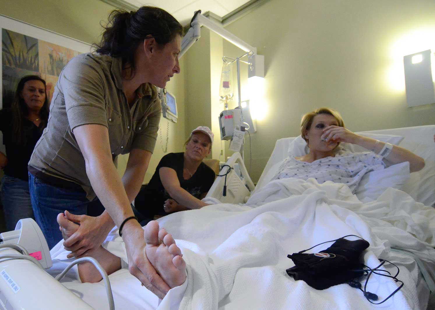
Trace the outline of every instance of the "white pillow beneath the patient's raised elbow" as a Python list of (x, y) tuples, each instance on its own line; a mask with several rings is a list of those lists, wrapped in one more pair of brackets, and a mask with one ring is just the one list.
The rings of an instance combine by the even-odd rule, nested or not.
[(388, 187), (401, 189), (410, 177), (409, 162), (366, 173), (359, 182), (355, 195), (359, 200), (368, 197), (376, 200)]

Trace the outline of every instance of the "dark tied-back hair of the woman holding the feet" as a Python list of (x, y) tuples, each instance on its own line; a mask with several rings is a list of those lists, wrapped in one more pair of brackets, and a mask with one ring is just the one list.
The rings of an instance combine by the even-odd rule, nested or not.
[[(104, 27), (104, 26), (103, 26)], [(136, 12), (114, 10), (104, 27), (97, 53), (121, 57), (123, 67), (128, 65), (134, 74), (134, 53), (145, 38), (154, 37), (157, 44), (165, 45), (177, 35), (183, 35), (183, 27), (168, 12), (158, 7), (141, 7)]]

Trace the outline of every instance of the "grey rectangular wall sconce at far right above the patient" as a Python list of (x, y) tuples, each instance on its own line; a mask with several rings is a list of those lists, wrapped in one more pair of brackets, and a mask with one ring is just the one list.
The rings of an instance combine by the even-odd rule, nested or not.
[(435, 103), (431, 50), (403, 57), (408, 107)]

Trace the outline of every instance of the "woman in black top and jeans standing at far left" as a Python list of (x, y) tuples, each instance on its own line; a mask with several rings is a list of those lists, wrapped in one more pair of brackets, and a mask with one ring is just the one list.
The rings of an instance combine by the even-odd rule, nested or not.
[(14, 230), (19, 219), (34, 218), (27, 163), (47, 119), (45, 81), (37, 75), (22, 77), (11, 107), (0, 111), (0, 131), (6, 147), (6, 155), (0, 152), (0, 168), (4, 170), (0, 196), (7, 231)]

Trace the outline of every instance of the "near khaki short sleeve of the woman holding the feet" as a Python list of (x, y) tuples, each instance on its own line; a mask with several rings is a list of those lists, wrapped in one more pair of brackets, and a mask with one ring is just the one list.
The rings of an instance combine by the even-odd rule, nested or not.
[(74, 57), (59, 77), (59, 95), (64, 96), (70, 128), (86, 124), (107, 127), (102, 68), (87, 54), (80, 56)]

